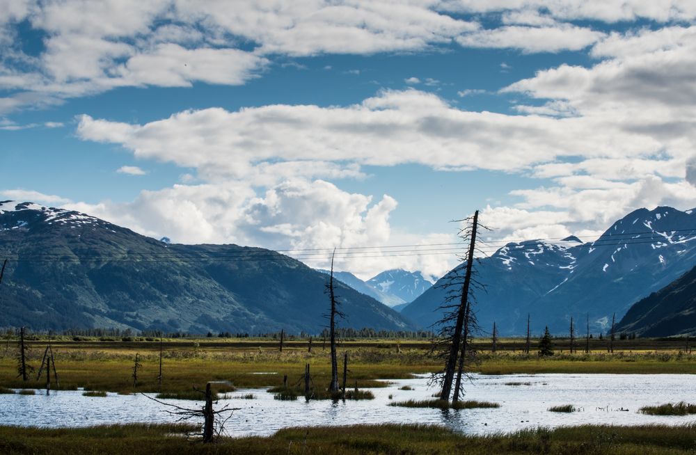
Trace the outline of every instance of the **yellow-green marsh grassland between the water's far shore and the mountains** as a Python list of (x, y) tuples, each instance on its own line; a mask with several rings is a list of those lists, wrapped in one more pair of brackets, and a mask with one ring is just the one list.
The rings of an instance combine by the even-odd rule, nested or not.
[[(310, 364), (317, 388), (331, 381), (329, 350), (314, 346), (312, 352), (300, 342), (287, 344), (283, 352), (269, 340), (219, 342), (213, 340), (179, 340), (164, 343), (163, 381), (159, 375), (159, 342), (119, 342), (94, 340), (54, 344), (56, 369), (61, 388), (106, 390), (111, 392), (186, 393), (192, 387), (203, 387), (207, 381), (231, 381), (236, 388), (269, 388), (294, 384)], [(647, 342), (643, 342), (644, 344)], [(647, 345), (647, 344), (646, 344)], [(411, 347), (404, 347), (411, 346)], [(38, 367), (45, 342), (33, 342), (28, 354), (29, 365)], [(35, 377), (23, 383), (17, 378), (15, 344), (0, 348), (0, 387), (40, 388)], [(441, 369), (432, 358), (427, 342), (379, 340), (344, 342), (340, 352), (349, 351), (350, 388), (371, 388), (383, 385), (377, 379), (410, 378), (412, 373)], [(132, 367), (139, 353), (138, 385), (134, 388)], [(483, 374), (534, 373), (688, 373), (696, 374), (696, 355), (681, 351), (593, 351), (589, 354), (560, 351), (551, 358), (527, 356), (518, 351), (484, 351), (480, 362), (469, 369)], [(512, 385), (512, 383), (511, 383)]]

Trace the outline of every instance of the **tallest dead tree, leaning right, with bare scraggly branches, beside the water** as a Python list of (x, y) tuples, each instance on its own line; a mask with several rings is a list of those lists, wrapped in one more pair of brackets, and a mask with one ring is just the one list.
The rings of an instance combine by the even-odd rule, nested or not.
[[(443, 319), (438, 321), (438, 325), (441, 326), (440, 334), (441, 339), (439, 344), (444, 348), (445, 356), (445, 369), (442, 374), (438, 374), (434, 381), (441, 382), (441, 394), (440, 397), (443, 400), (449, 401), (450, 392), (452, 391), (452, 381), (454, 381), (454, 374), (461, 372), (464, 368), (464, 358), (461, 358), (461, 362), (457, 360), (460, 359), (459, 351), (466, 350), (466, 346), (462, 346), (462, 337), (464, 337), (464, 344), (468, 342), (468, 336), (470, 332), (468, 331), (468, 326), (470, 319), (467, 314), (470, 314), (470, 290), (472, 289), (472, 271), (473, 271), (473, 261), (474, 252), (476, 248), (476, 232), (478, 227), (478, 210), (475, 211), (473, 218), (467, 218), (466, 220), (458, 221), (468, 221), (470, 222), (470, 227), (460, 230), (460, 237), (469, 240), (468, 252), (466, 255), (466, 262), (464, 263), (464, 281), (461, 282), (461, 288), (459, 288), (458, 274), (461, 271), (461, 266), (454, 269), (450, 273), (450, 281), (445, 284), (445, 286), (454, 287), (454, 294), (450, 294), (441, 305), (440, 308), (449, 310), (445, 314)], [(458, 289), (457, 289), (458, 288)], [(457, 294), (458, 293), (458, 294)], [(451, 302), (456, 302), (452, 304)], [(452, 322), (454, 321), (454, 326)], [(466, 323), (466, 324), (465, 324)], [(465, 332), (466, 326), (466, 334)], [(460, 368), (457, 368), (460, 366)], [(441, 377), (440, 377), (441, 376)], [(461, 374), (457, 374), (459, 383), (461, 384)], [(440, 381), (441, 379), (441, 381)], [(458, 393), (458, 392), (455, 392)]]

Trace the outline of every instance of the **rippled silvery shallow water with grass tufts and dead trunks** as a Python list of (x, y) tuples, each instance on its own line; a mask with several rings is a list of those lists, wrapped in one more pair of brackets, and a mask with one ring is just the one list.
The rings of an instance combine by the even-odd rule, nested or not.
[[(256, 399), (221, 399), (235, 411), (227, 424), (231, 436), (270, 435), (287, 426), (381, 423), (441, 424), (462, 433), (511, 432), (537, 426), (578, 424), (687, 424), (696, 416), (651, 416), (642, 406), (696, 401), (695, 377), (688, 374), (520, 374), (474, 375), (464, 399), (494, 401), (500, 408), (438, 410), (388, 406), (393, 401), (432, 399), (427, 377), (390, 381), (388, 388), (371, 389), (374, 400), (278, 401), (265, 389), (244, 389), (230, 397), (253, 393)], [(523, 383), (523, 385), (506, 385)], [(399, 390), (410, 385), (414, 390)], [(389, 395), (393, 399), (389, 399)], [(154, 394), (153, 394), (154, 395)], [(187, 408), (202, 403), (165, 400)], [(572, 404), (575, 413), (552, 413), (551, 406)], [(620, 409), (628, 409), (622, 411)], [(83, 397), (81, 391), (36, 395), (0, 395), (0, 424), (22, 426), (91, 426), (130, 422), (173, 422), (166, 406), (141, 394)]]

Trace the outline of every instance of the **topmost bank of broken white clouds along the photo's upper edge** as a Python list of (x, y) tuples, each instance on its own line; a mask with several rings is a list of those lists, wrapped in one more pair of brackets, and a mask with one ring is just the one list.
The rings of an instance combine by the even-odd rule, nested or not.
[[(527, 53), (578, 50), (604, 33), (573, 21), (696, 17), (686, 0), (547, 3), (293, 1), (269, 8), (221, 0), (5, 1), (0, 90), (7, 95), (0, 112), (124, 86), (239, 85), (278, 57), (423, 51), (453, 42)], [(482, 28), (482, 17), (492, 28)], [(45, 33), (40, 54), (24, 53), (22, 22)]]

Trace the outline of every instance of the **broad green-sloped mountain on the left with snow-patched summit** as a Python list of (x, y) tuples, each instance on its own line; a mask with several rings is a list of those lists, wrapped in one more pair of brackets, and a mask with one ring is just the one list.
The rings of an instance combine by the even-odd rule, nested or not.
[[(77, 211), (0, 202), (0, 326), (319, 333), (326, 276), (262, 248), (168, 244)], [(337, 283), (340, 326), (413, 330)]]

